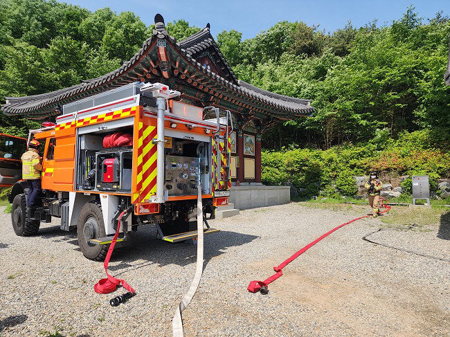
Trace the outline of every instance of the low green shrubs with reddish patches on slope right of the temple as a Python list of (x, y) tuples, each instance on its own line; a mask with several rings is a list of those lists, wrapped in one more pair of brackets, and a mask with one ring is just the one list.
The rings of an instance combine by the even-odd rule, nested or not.
[[(265, 150), (262, 152), (262, 183), (292, 183), (300, 189), (301, 197), (352, 196), (358, 192), (352, 176), (377, 170), (380, 174), (395, 176), (426, 174), (430, 177), (431, 190), (435, 191), (438, 179), (450, 176), (450, 154), (432, 147), (426, 140), (428, 135), (428, 131), (415, 131), (393, 140), (386, 138), (386, 132), (381, 130), (379, 138), (372, 143), (342, 145), (325, 151)], [(402, 187), (411, 194), (411, 178), (403, 181)]]

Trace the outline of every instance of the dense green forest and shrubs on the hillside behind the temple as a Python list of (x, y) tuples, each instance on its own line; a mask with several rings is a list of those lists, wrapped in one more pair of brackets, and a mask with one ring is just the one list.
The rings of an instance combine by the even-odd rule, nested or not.
[[(300, 18), (299, 18), (300, 19)], [(0, 0), (0, 104), (7, 96), (62, 89), (117, 69), (150, 37), (133, 12), (90, 12), (44, 0)], [(169, 22), (178, 41), (200, 28)], [(281, 21), (251, 39), (237, 30), (216, 42), (240, 80), (307, 98), (312, 117), (262, 135), (262, 182), (291, 184), (300, 197), (353, 196), (353, 176), (450, 178), (450, 88), (443, 75), (450, 20), (413, 7), (389, 25), (348, 22), (334, 32)], [(0, 131), (25, 136), (39, 122), (0, 114)], [(446, 197), (445, 194), (442, 197)]]

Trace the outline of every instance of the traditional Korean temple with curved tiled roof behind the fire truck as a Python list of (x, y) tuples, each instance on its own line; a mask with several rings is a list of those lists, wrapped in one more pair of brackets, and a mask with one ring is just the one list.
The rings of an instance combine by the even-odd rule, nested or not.
[(210, 25), (177, 42), (155, 16), (153, 34), (119, 69), (51, 93), (7, 97), (1, 110), (10, 116), (44, 119), (59, 115), (62, 105), (131, 82), (161, 82), (181, 92), (181, 101), (213, 105), (233, 113), (231, 176), (233, 185), (260, 185), (261, 133), (278, 122), (310, 116), (309, 100), (271, 93), (238, 80), (219, 50)]

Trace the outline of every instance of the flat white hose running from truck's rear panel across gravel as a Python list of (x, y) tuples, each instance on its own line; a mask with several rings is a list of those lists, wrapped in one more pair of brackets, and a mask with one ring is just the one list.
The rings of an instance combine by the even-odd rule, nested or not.
[(201, 202), (201, 186), (198, 185), (199, 195), (197, 198), (197, 266), (195, 268), (195, 275), (190, 284), (188, 292), (184, 295), (181, 302), (179, 302), (177, 310), (175, 310), (172, 318), (172, 334), (174, 337), (183, 337), (183, 319), (181, 312), (188, 307), (190, 301), (195, 295), (200, 284), (201, 274), (203, 273), (203, 205)]

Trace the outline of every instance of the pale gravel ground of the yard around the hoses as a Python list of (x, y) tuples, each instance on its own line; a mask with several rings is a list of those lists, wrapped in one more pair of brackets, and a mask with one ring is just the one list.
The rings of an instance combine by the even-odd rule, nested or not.
[[(211, 221), (222, 231), (206, 237), (204, 277), (183, 313), (186, 336), (449, 336), (450, 264), (363, 242), (379, 219), (316, 244), (268, 295), (246, 291), (305, 244), (367, 211), (290, 203)], [(450, 258), (450, 237), (437, 237), (438, 224), (426, 230), (370, 238)], [(175, 307), (195, 272), (195, 246), (161, 242), (154, 228), (140, 228), (110, 263), (137, 295), (113, 308), (111, 294), (93, 291), (105, 277), (102, 263), (82, 256), (74, 231), (63, 233), (55, 221), (35, 237), (17, 237), (0, 210), (0, 232), (1, 336), (171, 336)]]

